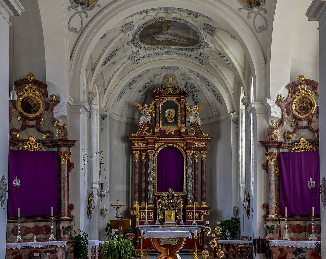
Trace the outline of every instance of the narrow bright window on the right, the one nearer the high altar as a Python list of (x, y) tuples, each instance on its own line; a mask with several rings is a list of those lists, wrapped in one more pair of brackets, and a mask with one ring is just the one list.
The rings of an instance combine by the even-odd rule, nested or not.
[(241, 95), (240, 95), (240, 116), (239, 116), (239, 123), (240, 123), (240, 193), (241, 193), (241, 200), (244, 200), (244, 187), (245, 187), (245, 132), (244, 132), (244, 125), (245, 125), (245, 106), (241, 102), (241, 99), (244, 97), (244, 90), (241, 88)]

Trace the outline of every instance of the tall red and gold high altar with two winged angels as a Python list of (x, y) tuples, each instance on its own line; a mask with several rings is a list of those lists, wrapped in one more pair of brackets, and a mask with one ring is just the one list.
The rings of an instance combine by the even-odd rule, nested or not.
[[(145, 227), (145, 222), (162, 227), (166, 221), (166, 211), (173, 210), (180, 230), (182, 226), (195, 223), (195, 227), (202, 230), (204, 216), (209, 215), (211, 209), (206, 204), (206, 154), (207, 144), (212, 137), (201, 130), (198, 115), (203, 104), (191, 106), (186, 100), (188, 94), (179, 87), (172, 87), (171, 77), (167, 82), (168, 87), (162, 86), (153, 92), (150, 106), (135, 104), (139, 106), (142, 116), (138, 132), (128, 137), (133, 143), (134, 154), (134, 201), (130, 207), (131, 215), (135, 215), (139, 207), (140, 228)], [(191, 129), (185, 126), (187, 116)], [(150, 129), (153, 121), (154, 129)], [(201, 203), (198, 197), (199, 159)], [(168, 201), (166, 197), (169, 197)], [(199, 246), (203, 247), (202, 231), (198, 239)], [(185, 248), (193, 246), (193, 242), (185, 244)]]

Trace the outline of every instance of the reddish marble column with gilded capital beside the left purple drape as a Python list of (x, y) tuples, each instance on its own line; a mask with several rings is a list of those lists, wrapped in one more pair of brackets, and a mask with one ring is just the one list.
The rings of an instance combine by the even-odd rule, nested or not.
[(68, 218), (68, 169), (67, 163), (70, 156), (60, 156), (61, 159), (61, 209), (60, 217)]

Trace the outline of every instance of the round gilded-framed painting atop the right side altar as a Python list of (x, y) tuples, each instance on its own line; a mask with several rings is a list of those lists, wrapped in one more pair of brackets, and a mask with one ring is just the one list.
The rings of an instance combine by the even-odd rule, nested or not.
[(297, 118), (304, 119), (316, 110), (316, 100), (314, 97), (304, 94), (297, 96), (291, 104), (291, 111)]

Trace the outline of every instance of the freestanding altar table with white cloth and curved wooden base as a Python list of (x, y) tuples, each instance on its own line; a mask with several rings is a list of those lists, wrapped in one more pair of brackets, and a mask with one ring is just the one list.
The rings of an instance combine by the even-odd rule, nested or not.
[[(165, 228), (166, 229), (166, 228)], [(160, 238), (169, 238), (169, 237), (179, 237), (177, 244), (165, 244), (161, 245), (159, 239)], [(144, 234), (144, 239), (150, 238), (151, 243), (154, 249), (159, 252), (155, 259), (181, 259), (178, 252), (183, 248), (185, 245), (185, 239), (189, 237), (192, 238), (192, 235), (189, 231), (147, 231)]]

